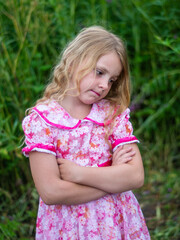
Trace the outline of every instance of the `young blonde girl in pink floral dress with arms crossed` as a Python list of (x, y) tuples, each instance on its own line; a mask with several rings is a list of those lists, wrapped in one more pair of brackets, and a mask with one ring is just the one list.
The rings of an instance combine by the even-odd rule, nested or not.
[(23, 120), (22, 151), (40, 195), (36, 239), (150, 239), (130, 191), (144, 171), (129, 99), (123, 42), (102, 27), (83, 29)]

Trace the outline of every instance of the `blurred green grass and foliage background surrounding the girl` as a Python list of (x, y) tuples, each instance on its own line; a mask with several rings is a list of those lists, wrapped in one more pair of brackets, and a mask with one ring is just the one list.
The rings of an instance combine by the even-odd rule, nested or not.
[(135, 193), (151, 237), (180, 239), (179, 0), (0, 0), (0, 239), (34, 239), (38, 195), (21, 154), (21, 121), (61, 50), (91, 25), (127, 45), (146, 172)]

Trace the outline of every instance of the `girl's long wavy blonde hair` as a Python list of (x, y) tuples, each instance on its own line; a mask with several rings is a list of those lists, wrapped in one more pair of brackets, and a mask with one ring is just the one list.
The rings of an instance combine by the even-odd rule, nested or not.
[[(118, 54), (122, 71), (105, 99), (110, 100), (112, 105), (120, 105), (118, 112), (122, 112), (130, 102), (126, 48), (119, 37), (100, 26), (82, 29), (76, 38), (67, 45), (59, 63), (54, 68), (51, 83), (46, 87), (43, 97), (37, 101), (37, 104), (48, 99), (62, 100), (70, 89), (72, 75), (76, 81), (76, 87), (80, 91), (81, 79), (96, 68), (96, 63), (101, 56), (112, 51)], [(84, 61), (86, 64), (83, 64), (79, 71), (75, 71)], [(74, 73), (76, 74), (74, 75)]]

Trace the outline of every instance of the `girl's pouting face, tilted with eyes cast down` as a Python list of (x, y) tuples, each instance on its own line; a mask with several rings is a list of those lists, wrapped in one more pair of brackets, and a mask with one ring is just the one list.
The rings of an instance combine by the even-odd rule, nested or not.
[(76, 97), (81, 104), (91, 105), (104, 98), (122, 71), (122, 64), (116, 52), (99, 58), (96, 69), (80, 82), (80, 94)]

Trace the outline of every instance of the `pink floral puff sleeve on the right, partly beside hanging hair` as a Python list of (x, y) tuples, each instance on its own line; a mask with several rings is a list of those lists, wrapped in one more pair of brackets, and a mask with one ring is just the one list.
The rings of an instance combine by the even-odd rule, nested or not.
[(118, 115), (115, 119), (115, 125), (112, 134), (109, 136), (109, 140), (112, 144), (113, 152), (118, 146), (139, 142), (139, 140), (133, 135), (133, 127), (130, 118), (130, 110), (127, 108), (123, 113)]

